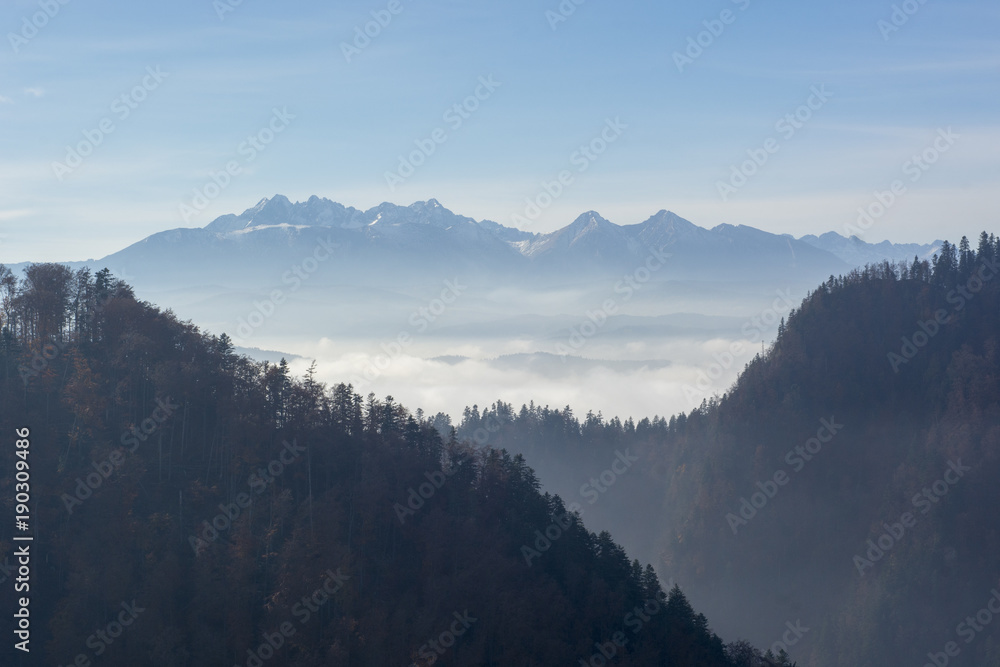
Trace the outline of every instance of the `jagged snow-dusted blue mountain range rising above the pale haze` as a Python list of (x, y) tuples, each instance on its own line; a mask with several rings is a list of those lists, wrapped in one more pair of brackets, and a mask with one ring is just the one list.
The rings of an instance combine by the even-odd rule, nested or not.
[[(322, 249), (321, 256), (329, 252), (334, 260), (323, 272), (336, 283), (393, 285), (401, 272), (408, 280), (437, 280), (446, 263), (448, 274), (534, 284), (632, 272), (657, 251), (670, 259), (655, 280), (811, 284), (866, 263), (926, 256), (938, 245), (869, 244), (833, 232), (795, 239), (745, 225), (705, 229), (666, 210), (628, 225), (588, 211), (543, 234), (458, 215), (435, 199), (362, 211), (316, 196), (293, 203), (275, 195), (203, 228), (160, 232), (99, 260), (71, 264), (108, 266), (138, 286), (248, 286), (274, 282)], [(178, 275), (179, 263), (196, 268)]]

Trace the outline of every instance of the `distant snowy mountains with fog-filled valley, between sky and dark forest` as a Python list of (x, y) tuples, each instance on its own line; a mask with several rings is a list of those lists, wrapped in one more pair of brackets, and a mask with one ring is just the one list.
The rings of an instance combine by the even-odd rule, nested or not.
[(831, 275), (939, 245), (707, 230), (666, 211), (625, 226), (590, 212), (535, 234), (435, 200), (359, 211), (279, 195), (68, 265), (108, 267), (297, 374), (316, 360), (330, 384), (429, 412), (499, 398), (641, 418), (725, 391)]

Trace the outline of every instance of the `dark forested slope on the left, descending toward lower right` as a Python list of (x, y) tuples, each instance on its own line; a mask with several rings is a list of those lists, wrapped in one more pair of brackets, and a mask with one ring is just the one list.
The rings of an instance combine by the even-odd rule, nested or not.
[(522, 456), (236, 355), (106, 270), (0, 267), (0, 298), (0, 561), (21, 428), (34, 536), (4, 664), (760, 662)]

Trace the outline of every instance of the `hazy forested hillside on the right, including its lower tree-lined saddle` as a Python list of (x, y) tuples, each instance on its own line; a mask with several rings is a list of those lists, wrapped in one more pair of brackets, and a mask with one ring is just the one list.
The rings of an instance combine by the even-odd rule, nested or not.
[[(492, 429), (550, 488), (591, 499), (584, 518), (658, 552), (720, 632), (794, 639), (817, 666), (1000, 665), (998, 262), (984, 233), (831, 277), (690, 414), (498, 403), (458, 432)], [(636, 465), (601, 477), (626, 450)]]

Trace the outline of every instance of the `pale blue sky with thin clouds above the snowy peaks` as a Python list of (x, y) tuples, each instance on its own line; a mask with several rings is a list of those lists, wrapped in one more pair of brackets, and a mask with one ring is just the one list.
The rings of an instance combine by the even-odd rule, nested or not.
[(1000, 231), (998, 27), (993, 0), (5, 0), (0, 262), (278, 193), (536, 232)]

